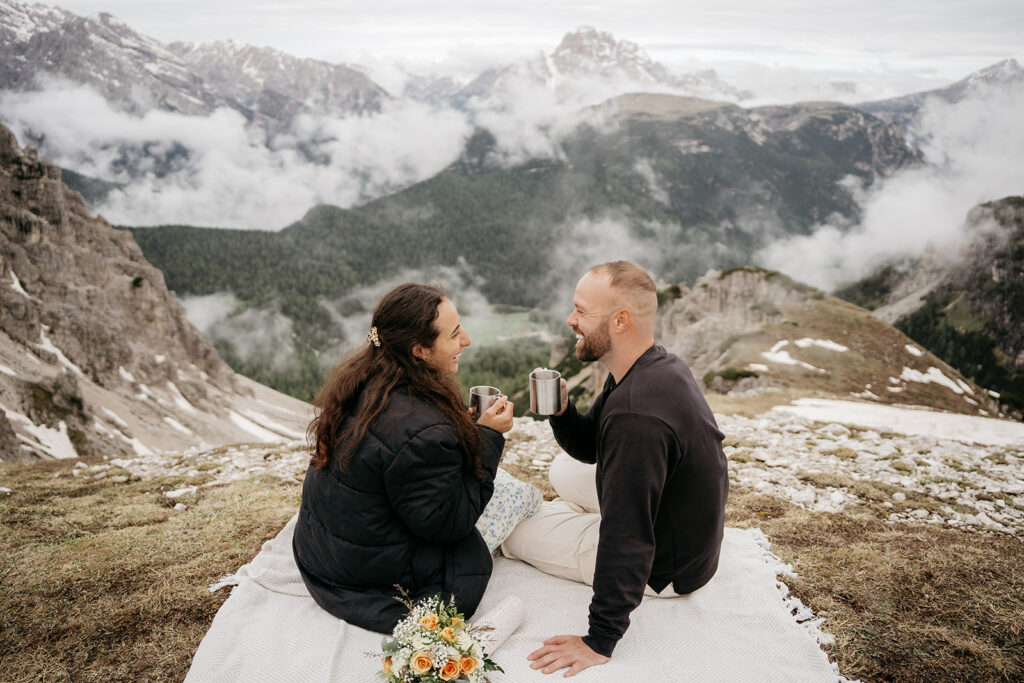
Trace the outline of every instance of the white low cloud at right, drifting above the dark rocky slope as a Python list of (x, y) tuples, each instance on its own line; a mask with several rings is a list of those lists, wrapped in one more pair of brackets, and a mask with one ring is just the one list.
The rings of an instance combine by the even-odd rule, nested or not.
[(929, 166), (858, 190), (858, 224), (825, 222), (810, 236), (774, 243), (757, 260), (831, 290), (929, 247), (954, 254), (967, 238), (968, 211), (1024, 191), (1022, 111), (1020, 86), (985, 89), (955, 104), (929, 101), (911, 131)]

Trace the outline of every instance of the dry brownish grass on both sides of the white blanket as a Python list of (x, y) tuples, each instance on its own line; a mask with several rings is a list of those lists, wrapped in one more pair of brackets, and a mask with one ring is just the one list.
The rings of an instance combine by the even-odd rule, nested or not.
[[(13, 490), (0, 496), (5, 681), (182, 679), (228, 595), (207, 587), (299, 501), (297, 484), (255, 478), (201, 489), (178, 512), (160, 492), (181, 478), (90, 482), (53, 462), (0, 464), (0, 481)], [(1021, 541), (892, 525), (881, 508), (810, 513), (738, 488), (727, 523), (760, 526), (795, 565), (791, 588), (825, 617), (844, 675), (1024, 679)]]

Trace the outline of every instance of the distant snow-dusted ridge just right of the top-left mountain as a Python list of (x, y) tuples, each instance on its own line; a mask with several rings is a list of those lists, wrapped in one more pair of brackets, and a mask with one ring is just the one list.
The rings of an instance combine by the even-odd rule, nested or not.
[(168, 47), (219, 92), (272, 117), (285, 112), (263, 110), (268, 103), (285, 103), (282, 98), (296, 111), (361, 114), (379, 111), (387, 97), (383, 88), (355, 69), (269, 47), (234, 40)]

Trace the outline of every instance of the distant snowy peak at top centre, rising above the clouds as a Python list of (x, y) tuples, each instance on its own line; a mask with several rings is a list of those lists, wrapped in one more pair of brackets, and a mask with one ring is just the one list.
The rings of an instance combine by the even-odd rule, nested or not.
[(551, 53), (484, 71), (456, 93), (453, 101), (466, 104), (474, 98), (485, 101), (500, 97), (503, 89), (515, 81), (541, 85), (557, 93), (584, 80), (629, 84), (630, 90), (671, 90), (730, 101), (751, 96), (722, 82), (712, 70), (673, 74), (636, 43), (615, 40), (610, 33), (585, 26), (565, 34)]

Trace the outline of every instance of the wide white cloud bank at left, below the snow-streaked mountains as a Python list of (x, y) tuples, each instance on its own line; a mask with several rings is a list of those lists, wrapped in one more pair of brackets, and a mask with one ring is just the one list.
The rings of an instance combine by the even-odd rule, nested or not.
[(298, 117), (267, 140), (241, 114), (132, 116), (49, 81), (0, 93), (4, 123), (51, 163), (126, 183), (94, 207), (114, 223), (280, 229), (315, 204), (347, 207), (430, 177), (471, 133), (466, 116), (391, 100), (375, 116)]

